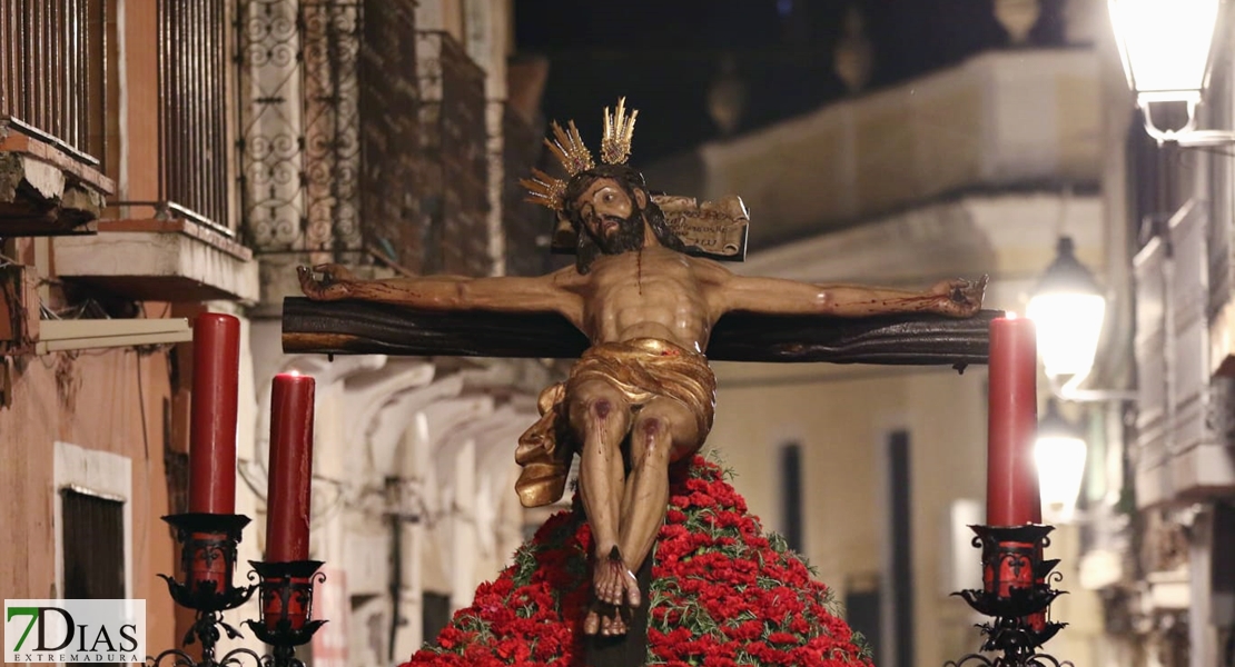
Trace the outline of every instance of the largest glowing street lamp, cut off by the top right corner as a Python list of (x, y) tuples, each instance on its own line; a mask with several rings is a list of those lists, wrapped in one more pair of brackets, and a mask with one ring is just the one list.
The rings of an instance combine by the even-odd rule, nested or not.
[[(1195, 129), (1195, 111), (1209, 83), (1212, 51), (1223, 0), (1109, 0), (1110, 23), (1128, 85), (1145, 115), (1151, 137), (1181, 145), (1235, 142), (1235, 133)], [(1183, 104), (1187, 123), (1179, 129), (1153, 125), (1155, 104)]]

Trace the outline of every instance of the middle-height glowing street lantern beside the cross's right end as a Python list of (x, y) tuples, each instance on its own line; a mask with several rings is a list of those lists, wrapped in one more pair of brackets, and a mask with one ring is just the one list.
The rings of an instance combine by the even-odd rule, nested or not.
[(1037, 354), (1046, 375), (1084, 376), (1093, 366), (1107, 300), (1082, 265), (1072, 239), (1060, 239), (1055, 261), (1042, 274), (1025, 314), (1037, 329)]

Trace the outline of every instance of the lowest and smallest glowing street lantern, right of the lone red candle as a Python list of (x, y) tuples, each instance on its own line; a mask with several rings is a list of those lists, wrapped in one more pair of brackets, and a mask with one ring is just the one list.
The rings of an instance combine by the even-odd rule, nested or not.
[(1047, 520), (1066, 523), (1072, 519), (1084, 480), (1086, 449), (1084, 436), (1060, 414), (1055, 401), (1049, 401), (1034, 444), (1039, 492)]

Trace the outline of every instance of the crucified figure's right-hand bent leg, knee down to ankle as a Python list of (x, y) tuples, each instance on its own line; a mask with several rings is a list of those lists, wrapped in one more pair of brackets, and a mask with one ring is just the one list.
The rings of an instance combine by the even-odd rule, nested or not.
[[(699, 448), (694, 414), (672, 398), (657, 398), (640, 411), (630, 432), (631, 472), (621, 503), (619, 544), (626, 566), (637, 571), (656, 542), (669, 502), (669, 464)], [(627, 594), (637, 607), (638, 587)]]

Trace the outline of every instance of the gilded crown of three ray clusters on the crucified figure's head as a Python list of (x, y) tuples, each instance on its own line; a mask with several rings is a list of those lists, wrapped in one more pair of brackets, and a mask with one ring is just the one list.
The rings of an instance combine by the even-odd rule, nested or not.
[[(638, 117), (637, 110), (631, 110), (630, 115), (626, 115), (626, 97), (618, 100), (614, 113), (609, 112), (608, 106), (605, 107), (604, 134), (600, 138), (600, 159), (605, 164), (625, 164), (626, 159), (630, 158), (630, 143), (635, 133), (636, 117)], [(557, 158), (557, 162), (562, 163), (567, 174), (574, 176), (597, 165), (592, 152), (579, 137), (579, 129), (574, 127), (574, 121), (567, 123), (568, 129), (562, 129), (557, 122), (552, 127), (553, 138), (546, 138), (545, 145)], [(562, 201), (566, 195), (564, 180), (550, 176), (540, 169), (532, 169), (532, 178), (522, 179), (519, 184), (527, 189), (527, 201), (553, 211), (566, 208), (566, 202)]]

